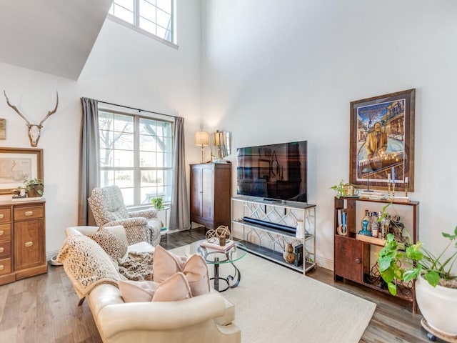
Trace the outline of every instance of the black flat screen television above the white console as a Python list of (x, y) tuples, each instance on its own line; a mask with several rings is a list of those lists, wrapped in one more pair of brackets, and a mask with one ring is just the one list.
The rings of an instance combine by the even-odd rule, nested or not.
[(307, 202), (306, 141), (236, 149), (236, 193)]

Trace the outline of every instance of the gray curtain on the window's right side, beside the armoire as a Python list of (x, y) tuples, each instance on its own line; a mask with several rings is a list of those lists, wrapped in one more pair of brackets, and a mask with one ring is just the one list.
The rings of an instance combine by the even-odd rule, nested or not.
[(174, 125), (173, 192), (171, 194), (170, 230), (190, 229), (189, 199), (187, 198), (184, 118), (177, 117)]

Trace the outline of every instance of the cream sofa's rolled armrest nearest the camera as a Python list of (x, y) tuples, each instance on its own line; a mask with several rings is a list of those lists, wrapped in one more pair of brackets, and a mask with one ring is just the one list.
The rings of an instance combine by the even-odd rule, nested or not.
[(114, 337), (120, 332), (164, 332), (181, 329), (224, 316), (226, 304), (220, 294), (210, 293), (179, 302), (129, 302), (109, 304), (98, 317), (103, 335)]

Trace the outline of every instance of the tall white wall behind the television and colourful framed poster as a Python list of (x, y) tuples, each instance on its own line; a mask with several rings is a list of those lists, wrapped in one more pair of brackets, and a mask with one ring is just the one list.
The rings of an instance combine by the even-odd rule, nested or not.
[(411, 88), (411, 198), (421, 202), (420, 239), (432, 251), (443, 247), (440, 233), (457, 224), (457, 2), (206, 0), (203, 7), (205, 124), (233, 132), (234, 151), (308, 140), (318, 263), (333, 263), (328, 188), (348, 181), (350, 101)]

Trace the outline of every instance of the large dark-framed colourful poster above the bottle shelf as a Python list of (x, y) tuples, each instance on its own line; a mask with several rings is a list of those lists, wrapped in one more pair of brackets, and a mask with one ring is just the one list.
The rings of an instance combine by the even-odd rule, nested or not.
[(416, 89), (351, 101), (349, 182), (359, 188), (414, 191)]

